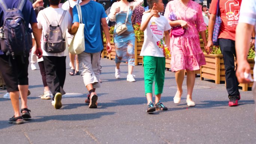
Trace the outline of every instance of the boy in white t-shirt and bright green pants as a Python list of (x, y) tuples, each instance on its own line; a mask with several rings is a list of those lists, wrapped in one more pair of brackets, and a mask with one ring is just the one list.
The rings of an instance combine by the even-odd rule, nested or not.
[[(162, 0), (147, 0), (149, 11), (142, 16), (140, 30), (144, 31), (144, 43), (140, 55), (144, 62), (144, 85), (147, 97), (147, 113), (156, 109), (168, 110), (161, 102), (161, 94), (164, 87), (165, 53), (162, 45), (159, 45), (165, 36), (165, 42), (169, 48), (170, 36), (168, 30), (170, 24), (164, 16), (158, 12), (164, 11)], [(152, 103), (152, 85), (155, 80), (155, 106)]]

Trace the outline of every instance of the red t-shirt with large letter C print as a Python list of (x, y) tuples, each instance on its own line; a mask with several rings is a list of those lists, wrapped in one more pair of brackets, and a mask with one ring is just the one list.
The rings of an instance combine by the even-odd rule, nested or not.
[[(219, 38), (235, 40), (235, 28), (238, 24), (242, 0), (220, 0), (220, 26)], [(216, 15), (217, 0), (211, 1), (210, 13)]]

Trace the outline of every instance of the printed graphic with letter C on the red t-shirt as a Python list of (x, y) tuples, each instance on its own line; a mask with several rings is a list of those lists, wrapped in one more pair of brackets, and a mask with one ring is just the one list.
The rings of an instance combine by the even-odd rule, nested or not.
[[(234, 3), (236, 1), (236, 3)], [(225, 10), (226, 10), (226, 18), (228, 19), (228, 26), (236, 26), (238, 24), (239, 19), (239, 1), (237, 0), (228, 0), (225, 3)]]

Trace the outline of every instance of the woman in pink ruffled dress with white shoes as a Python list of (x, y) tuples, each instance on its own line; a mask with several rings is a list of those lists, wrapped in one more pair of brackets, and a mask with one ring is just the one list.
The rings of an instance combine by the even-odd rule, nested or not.
[[(173, 21), (170, 14), (175, 14)], [(182, 96), (182, 83), (185, 70), (187, 72), (187, 105), (195, 106), (192, 101), (192, 92), (195, 84), (195, 70), (199, 70), (201, 65), (205, 65), (204, 54), (200, 48), (199, 34), (204, 41), (206, 50), (207, 39), (205, 30), (207, 29), (202, 17), (202, 7), (192, 0), (170, 1), (165, 9), (164, 16), (168, 19), (171, 27), (181, 26), (186, 29), (182, 36), (175, 36), (170, 33), (171, 49), (171, 70), (175, 71), (177, 92), (173, 98), (175, 104), (180, 103)], [(170, 19), (171, 18), (171, 19)], [(206, 50), (210, 52), (210, 50)]]

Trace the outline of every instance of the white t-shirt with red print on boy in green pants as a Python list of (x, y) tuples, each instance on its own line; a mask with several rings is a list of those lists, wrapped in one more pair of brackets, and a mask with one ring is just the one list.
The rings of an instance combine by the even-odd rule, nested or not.
[[(146, 21), (149, 14), (150, 13), (145, 13), (142, 16), (141, 24)], [(144, 43), (140, 56), (164, 57), (164, 51), (162, 48), (159, 48), (157, 43), (163, 39), (164, 31), (168, 31), (170, 29), (171, 26), (164, 16), (160, 15), (159, 18), (153, 16), (144, 31)]]

